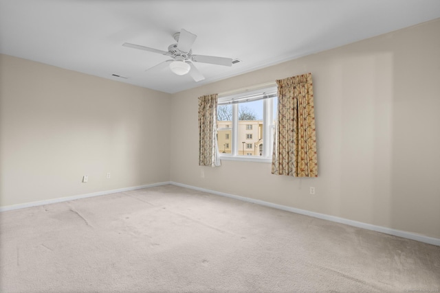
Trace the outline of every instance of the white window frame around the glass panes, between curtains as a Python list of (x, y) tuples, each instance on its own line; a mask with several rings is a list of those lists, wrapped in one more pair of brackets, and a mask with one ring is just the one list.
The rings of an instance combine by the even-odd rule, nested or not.
[[(277, 86), (276, 84), (274, 84), (271, 86), (265, 86), (261, 89), (257, 89), (254, 91), (241, 91), (233, 95), (219, 95), (219, 106), (226, 104), (230, 104), (232, 106), (232, 121), (231, 121), (232, 125), (230, 125), (231, 127), (228, 128), (229, 130), (231, 130), (231, 135), (230, 135), (231, 152), (228, 154), (224, 154), (224, 153), (219, 154), (219, 158), (221, 160), (272, 163), (272, 148), (273, 148), (274, 130), (276, 124), (275, 121), (276, 114), (274, 114), (274, 107), (277, 106), (274, 105), (274, 97), (276, 97), (276, 94), (277, 94)], [(239, 120), (238, 120), (239, 104), (245, 102), (253, 102), (259, 99), (263, 100), (263, 153), (260, 155), (260, 151), (259, 151), (259, 154), (255, 154), (252, 156), (249, 156), (248, 154), (239, 155), (239, 151), (241, 151), (241, 141), (238, 141), (238, 137), (237, 137), (238, 129), (239, 129)], [(237, 100), (239, 102), (237, 102)], [(245, 130), (250, 130), (248, 129), (248, 124), (246, 124)], [(247, 137), (248, 136), (246, 136), (246, 138)], [(267, 141), (269, 141), (269, 143), (267, 143)]]

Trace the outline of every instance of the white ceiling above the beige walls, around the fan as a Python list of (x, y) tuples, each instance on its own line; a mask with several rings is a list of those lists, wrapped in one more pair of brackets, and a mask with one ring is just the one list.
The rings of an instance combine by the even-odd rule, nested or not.
[[(0, 53), (176, 93), (439, 17), (440, 0), (0, 0)], [(195, 63), (195, 82), (145, 71), (169, 58), (122, 47), (167, 51), (182, 28), (193, 54), (242, 62)]]

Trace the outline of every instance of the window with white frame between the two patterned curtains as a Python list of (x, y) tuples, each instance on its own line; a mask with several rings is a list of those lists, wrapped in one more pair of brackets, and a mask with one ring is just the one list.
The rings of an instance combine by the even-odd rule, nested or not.
[(257, 91), (220, 95), (217, 138), (221, 159), (270, 162), (276, 119), (276, 91), (276, 86), (271, 86)]

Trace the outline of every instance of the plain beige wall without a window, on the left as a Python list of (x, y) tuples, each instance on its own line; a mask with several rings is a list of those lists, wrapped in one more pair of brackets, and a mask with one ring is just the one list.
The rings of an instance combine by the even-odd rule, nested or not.
[(0, 84), (1, 206), (169, 180), (169, 94), (5, 55)]

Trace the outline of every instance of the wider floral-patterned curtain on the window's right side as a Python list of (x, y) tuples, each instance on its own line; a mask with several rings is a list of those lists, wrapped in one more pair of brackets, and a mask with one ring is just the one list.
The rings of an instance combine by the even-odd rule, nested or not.
[(318, 177), (314, 90), (311, 73), (278, 84), (278, 115), (272, 174)]

